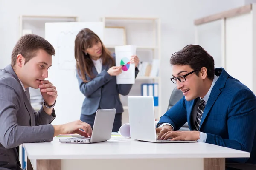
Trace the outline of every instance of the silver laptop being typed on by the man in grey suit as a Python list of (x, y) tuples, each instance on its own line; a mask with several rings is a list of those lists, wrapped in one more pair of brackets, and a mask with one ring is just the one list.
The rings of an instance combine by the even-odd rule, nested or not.
[(96, 111), (91, 137), (60, 139), (61, 143), (95, 143), (111, 138), (116, 109), (98, 109)]

